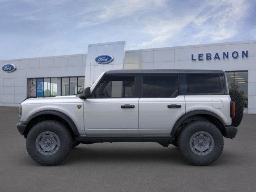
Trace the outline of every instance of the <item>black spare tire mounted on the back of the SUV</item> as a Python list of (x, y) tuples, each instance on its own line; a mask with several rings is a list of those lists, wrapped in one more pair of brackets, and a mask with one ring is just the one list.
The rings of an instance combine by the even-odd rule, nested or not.
[(244, 114), (244, 100), (242, 99), (241, 94), (234, 89), (229, 90), (229, 95), (231, 101), (234, 101), (235, 104), (235, 117), (232, 118), (232, 125), (238, 127), (242, 121)]

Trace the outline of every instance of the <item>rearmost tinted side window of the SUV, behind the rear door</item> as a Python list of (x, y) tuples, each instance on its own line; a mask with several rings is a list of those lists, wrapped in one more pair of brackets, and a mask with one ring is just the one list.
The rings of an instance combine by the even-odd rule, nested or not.
[(191, 74), (186, 76), (188, 93), (210, 94), (222, 93), (218, 74)]

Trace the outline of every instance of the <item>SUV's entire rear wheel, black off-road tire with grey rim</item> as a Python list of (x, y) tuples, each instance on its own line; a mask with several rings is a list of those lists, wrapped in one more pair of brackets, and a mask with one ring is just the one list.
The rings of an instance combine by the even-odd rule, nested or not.
[(208, 121), (188, 123), (178, 136), (178, 148), (184, 158), (197, 166), (209, 165), (219, 158), (224, 146), (220, 130)]

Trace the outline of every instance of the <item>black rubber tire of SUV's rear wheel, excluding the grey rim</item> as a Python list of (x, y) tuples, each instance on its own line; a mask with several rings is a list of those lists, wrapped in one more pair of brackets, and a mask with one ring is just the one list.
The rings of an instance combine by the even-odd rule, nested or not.
[[(207, 132), (214, 141), (209, 154), (198, 155), (190, 148), (190, 138), (197, 132)], [(220, 130), (212, 123), (204, 120), (192, 121), (182, 128), (178, 135), (178, 149), (187, 162), (196, 166), (206, 166), (219, 158), (224, 146)]]

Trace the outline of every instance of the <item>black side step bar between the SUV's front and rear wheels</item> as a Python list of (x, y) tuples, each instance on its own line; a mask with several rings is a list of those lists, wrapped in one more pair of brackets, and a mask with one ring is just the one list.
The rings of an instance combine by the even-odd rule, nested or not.
[(86, 136), (77, 137), (79, 142), (172, 142), (173, 136)]

